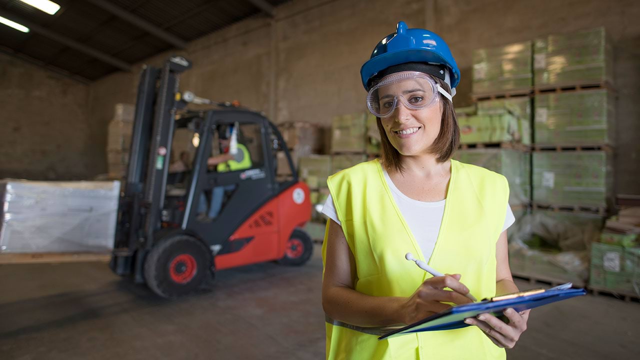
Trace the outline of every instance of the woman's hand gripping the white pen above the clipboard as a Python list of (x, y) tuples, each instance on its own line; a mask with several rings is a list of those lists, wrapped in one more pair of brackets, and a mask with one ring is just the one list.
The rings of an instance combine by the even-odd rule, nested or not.
[[(467, 295), (469, 290), (460, 282), (460, 274), (436, 276), (422, 282), (415, 293), (403, 304), (404, 323), (410, 324), (435, 313), (449, 309), (451, 302), (456, 305), (472, 302)], [(444, 290), (449, 288), (450, 290)]]

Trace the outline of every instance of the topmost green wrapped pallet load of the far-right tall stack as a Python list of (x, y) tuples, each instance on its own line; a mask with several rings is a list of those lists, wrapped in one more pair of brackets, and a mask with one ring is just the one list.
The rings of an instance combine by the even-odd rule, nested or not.
[(538, 38), (533, 51), (536, 88), (611, 83), (613, 52), (604, 28)]

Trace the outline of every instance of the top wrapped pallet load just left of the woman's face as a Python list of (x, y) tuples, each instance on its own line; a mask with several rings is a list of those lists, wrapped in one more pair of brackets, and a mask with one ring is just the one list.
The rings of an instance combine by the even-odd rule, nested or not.
[(367, 113), (334, 117), (332, 120), (332, 152), (364, 152), (367, 149)]

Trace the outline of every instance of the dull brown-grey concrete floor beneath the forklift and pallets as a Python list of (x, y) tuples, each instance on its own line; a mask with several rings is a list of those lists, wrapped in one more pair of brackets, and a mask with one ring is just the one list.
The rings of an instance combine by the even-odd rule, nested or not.
[[(321, 258), (220, 272), (156, 299), (103, 263), (0, 266), (0, 359), (322, 359)], [(520, 288), (531, 288), (518, 282)], [(640, 304), (588, 295), (536, 309), (509, 359), (638, 359)]]

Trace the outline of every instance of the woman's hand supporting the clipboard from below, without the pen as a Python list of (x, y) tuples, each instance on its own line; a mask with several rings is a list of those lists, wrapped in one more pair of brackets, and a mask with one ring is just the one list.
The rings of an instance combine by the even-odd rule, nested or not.
[(465, 323), (479, 327), (495, 345), (501, 348), (513, 348), (518, 339), (520, 339), (520, 335), (527, 330), (529, 311), (531, 310), (518, 313), (511, 308), (506, 309), (504, 315), (509, 319), (509, 323), (503, 322), (491, 314), (481, 314), (477, 318), (467, 318)]

